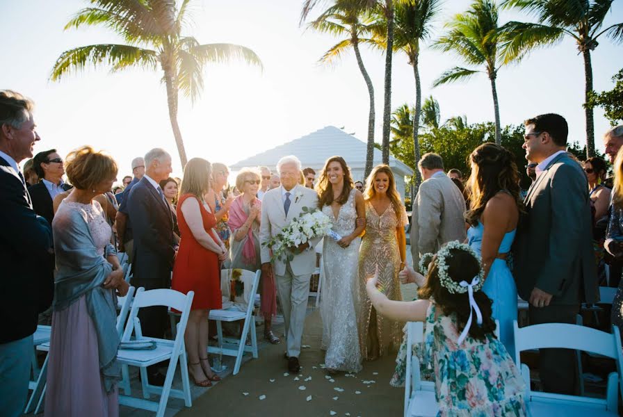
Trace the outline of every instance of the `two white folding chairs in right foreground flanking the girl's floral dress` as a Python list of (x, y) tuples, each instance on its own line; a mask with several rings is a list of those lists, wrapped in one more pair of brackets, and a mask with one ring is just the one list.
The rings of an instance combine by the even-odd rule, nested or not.
[[(499, 326), (498, 326), (499, 327)], [(601, 332), (590, 327), (549, 323), (515, 329), (515, 363), (521, 369), (526, 384), (525, 400), (528, 415), (538, 416), (617, 416), (619, 392), (623, 395), (623, 354), (619, 329), (613, 326), (612, 333)], [(437, 416), (439, 407), (435, 399), (435, 385), (421, 381), (419, 359), (412, 354), (412, 344), (423, 341), (423, 323), (407, 323), (407, 372), (405, 375), (405, 416)], [(520, 363), (519, 354), (526, 350), (544, 348), (567, 348), (594, 352), (615, 360), (617, 372), (608, 375), (606, 399), (578, 395), (561, 395), (532, 391), (530, 370)]]

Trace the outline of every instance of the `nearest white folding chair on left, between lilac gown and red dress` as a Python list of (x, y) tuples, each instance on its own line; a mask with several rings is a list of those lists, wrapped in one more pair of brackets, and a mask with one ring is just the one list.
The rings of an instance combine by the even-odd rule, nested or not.
[[(195, 293), (189, 291), (184, 295), (179, 291), (168, 289), (157, 289), (145, 291), (143, 287), (138, 288), (132, 303), (132, 309), (128, 318), (127, 326), (121, 338), (122, 343), (129, 341), (132, 334), (137, 340), (154, 341), (155, 349), (152, 350), (133, 350), (119, 349), (117, 360), (122, 365), (137, 366), (140, 368), (140, 379), (143, 386), (143, 398), (134, 398), (128, 395), (119, 395), (119, 404), (129, 407), (156, 411), (156, 417), (163, 417), (169, 397), (181, 398), (186, 407), (191, 407), (191, 385), (188, 382), (188, 366), (186, 364), (186, 349), (184, 347), (184, 332), (188, 323), (188, 316), (191, 313), (191, 305)], [(177, 336), (170, 341), (161, 338), (150, 338), (143, 336), (138, 320), (138, 311), (145, 307), (166, 306), (181, 311), (181, 318), (177, 325)], [(147, 366), (155, 365), (162, 361), (169, 360), (169, 366), (163, 386), (154, 386), (147, 382)], [(182, 390), (172, 389), (171, 385), (179, 361), (181, 373)], [(150, 394), (160, 395), (159, 402), (149, 400)]]

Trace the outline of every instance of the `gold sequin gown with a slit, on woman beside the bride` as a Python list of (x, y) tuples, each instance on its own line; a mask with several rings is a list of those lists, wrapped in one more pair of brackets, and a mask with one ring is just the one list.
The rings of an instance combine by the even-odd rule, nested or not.
[[(382, 293), (385, 293), (389, 300), (403, 300), (400, 280), (398, 279), (401, 256), (398, 252), (396, 227), (404, 227), (408, 222), (407, 211), (402, 205), (401, 218), (397, 218), (392, 204), (389, 204), (387, 210), (379, 215), (372, 204), (366, 202), (366, 234), (359, 251), (359, 300), (361, 300), (361, 306), (359, 306), (359, 320), (357, 320), (359, 324), (359, 347), (361, 347), (364, 358), (375, 356), (375, 352), (369, 352), (371, 346), (368, 341), (368, 333), (371, 327), (376, 327), (380, 356), (387, 354), (390, 348), (395, 349), (401, 343), (403, 324), (378, 316), (373, 311), (366, 293), (366, 281), (374, 277), (378, 268), (378, 282), (382, 286)], [(371, 323), (371, 316), (376, 316), (376, 323)]]

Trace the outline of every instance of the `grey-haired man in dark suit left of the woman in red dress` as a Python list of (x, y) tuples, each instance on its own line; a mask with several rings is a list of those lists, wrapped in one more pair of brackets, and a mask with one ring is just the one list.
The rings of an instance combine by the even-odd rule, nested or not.
[[(175, 258), (173, 218), (159, 185), (171, 172), (171, 156), (163, 149), (152, 149), (145, 155), (145, 175), (127, 196), (134, 239), (132, 285), (136, 288), (154, 290), (171, 287)], [(166, 307), (140, 309), (138, 318), (143, 335), (163, 337), (168, 322)], [(150, 384), (164, 383), (157, 366), (150, 366), (147, 373)]]

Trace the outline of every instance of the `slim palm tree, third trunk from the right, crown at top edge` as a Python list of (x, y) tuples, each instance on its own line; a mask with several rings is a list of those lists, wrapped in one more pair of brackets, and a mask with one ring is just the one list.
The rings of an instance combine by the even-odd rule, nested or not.
[[(439, 12), (440, 0), (408, 0), (396, 4), (394, 11), (394, 51), (403, 51), (413, 67), (415, 79), (415, 112), (413, 116), (413, 149), (415, 163), (420, 160), (419, 123), (422, 108), (422, 90), (418, 68), (420, 41), (430, 36), (432, 21)], [(437, 104), (437, 110), (439, 104)], [(415, 188), (422, 182), (419, 170), (415, 170)]]

